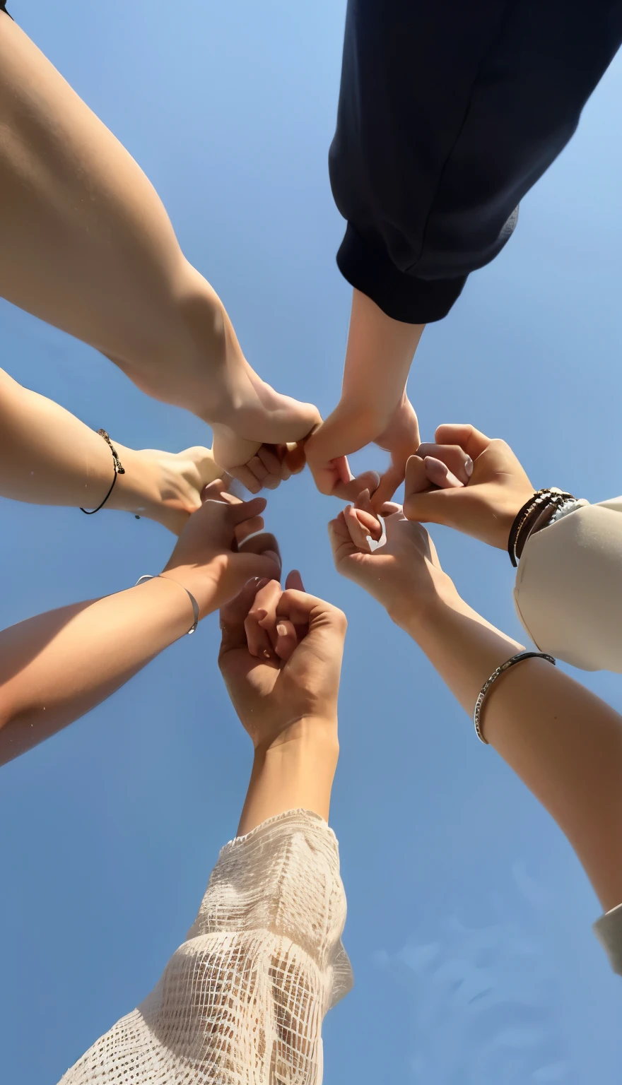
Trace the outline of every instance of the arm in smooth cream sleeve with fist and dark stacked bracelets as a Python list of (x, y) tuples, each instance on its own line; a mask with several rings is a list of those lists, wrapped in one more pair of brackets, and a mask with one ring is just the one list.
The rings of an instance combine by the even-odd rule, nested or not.
[[(404, 512), (441, 523), (499, 549), (534, 487), (512, 450), (472, 425), (442, 425), (435, 445), (421, 445), (406, 468)], [(470, 476), (443, 478), (470, 462)], [(434, 485), (433, 481), (436, 483)], [(622, 673), (622, 499), (570, 506), (560, 519), (545, 506), (521, 533), (515, 603), (543, 651), (585, 671)]]

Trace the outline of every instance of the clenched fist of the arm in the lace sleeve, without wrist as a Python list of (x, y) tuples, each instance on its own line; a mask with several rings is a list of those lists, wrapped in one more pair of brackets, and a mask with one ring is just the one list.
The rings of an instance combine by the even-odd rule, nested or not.
[(332, 737), (346, 629), (341, 611), (306, 595), (300, 574), (290, 573), (284, 591), (278, 580), (246, 584), (221, 610), (220, 628), (220, 672), (255, 750), (285, 741), (305, 722), (327, 725)]

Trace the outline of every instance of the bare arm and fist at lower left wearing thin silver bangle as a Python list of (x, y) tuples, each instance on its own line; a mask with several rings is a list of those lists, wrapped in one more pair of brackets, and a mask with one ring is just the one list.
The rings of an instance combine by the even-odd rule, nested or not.
[(187, 634), (193, 610), (185, 589), (203, 618), (250, 577), (278, 577), (278, 546), (263, 532), (265, 505), (241, 502), (216, 481), (160, 577), (0, 633), (0, 764), (89, 712)]

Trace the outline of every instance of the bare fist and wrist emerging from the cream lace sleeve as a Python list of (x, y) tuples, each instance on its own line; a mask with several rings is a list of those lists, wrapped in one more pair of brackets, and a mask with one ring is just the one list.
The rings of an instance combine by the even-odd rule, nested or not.
[[(277, 625), (295, 630), (281, 654), (272, 652), (268, 658), (251, 651), (249, 637), (256, 621), (257, 597), (266, 587), (274, 601), (266, 626), (269, 640), (279, 642)], [(221, 610), (220, 627), (220, 671), (254, 748), (238, 834), (289, 809), (308, 809), (328, 821), (339, 757), (337, 705), (344, 614), (307, 595), (300, 574), (291, 573), (284, 591), (278, 579), (249, 583)]]

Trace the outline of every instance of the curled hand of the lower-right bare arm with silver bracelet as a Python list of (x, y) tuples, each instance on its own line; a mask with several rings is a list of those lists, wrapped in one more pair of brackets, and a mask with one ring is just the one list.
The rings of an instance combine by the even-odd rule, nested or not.
[(356, 508), (348, 506), (328, 525), (338, 573), (365, 588), (384, 607), (403, 629), (424, 621), (430, 607), (454, 597), (456, 591), (441, 563), (428, 532), (409, 523), (398, 505), (381, 510), (386, 541), (369, 552), (368, 536), (381, 537), (381, 524), (361, 495)]

